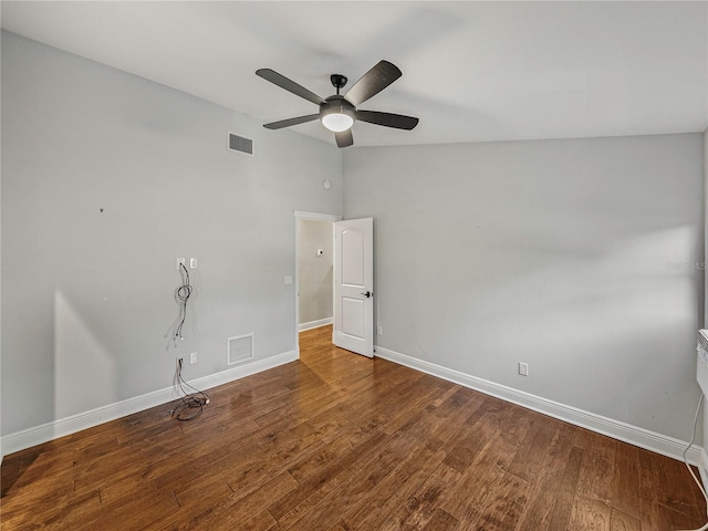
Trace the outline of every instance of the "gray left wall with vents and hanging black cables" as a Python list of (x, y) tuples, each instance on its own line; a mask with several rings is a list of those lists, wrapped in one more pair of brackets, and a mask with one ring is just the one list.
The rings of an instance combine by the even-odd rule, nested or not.
[(225, 371), (229, 336), (294, 350), (293, 210), (341, 214), (335, 146), (3, 32), (2, 152), (3, 435)]

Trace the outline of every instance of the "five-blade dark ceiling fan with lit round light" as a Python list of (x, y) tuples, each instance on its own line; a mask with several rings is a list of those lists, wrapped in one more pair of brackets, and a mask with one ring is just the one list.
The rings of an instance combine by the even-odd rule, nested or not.
[(336, 88), (336, 94), (326, 98), (317, 96), (304, 86), (270, 69), (257, 70), (256, 75), (320, 106), (320, 112), (316, 114), (308, 114), (305, 116), (281, 119), (280, 122), (263, 125), (263, 127), (268, 129), (280, 129), (319, 118), (322, 125), (334, 133), (334, 138), (339, 147), (348, 147), (354, 144), (352, 125), (354, 125), (354, 122), (357, 119), (369, 124), (383, 125), (384, 127), (395, 127), (407, 131), (418, 125), (418, 118), (414, 118), (413, 116), (382, 113), (378, 111), (360, 111), (356, 108), (403, 75), (400, 70), (388, 61), (379, 61), (372, 70), (354, 83), (344, 95), (340, 95), (340, 88), (346, 85), (346, 77), (342, 74), (332, 74), (330, 81)]

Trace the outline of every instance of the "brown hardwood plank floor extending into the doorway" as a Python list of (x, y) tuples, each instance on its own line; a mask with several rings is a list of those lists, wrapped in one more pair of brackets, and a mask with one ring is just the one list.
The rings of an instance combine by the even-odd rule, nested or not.
[(684, 465), (301, 334), (301, 360), (4, 458), (2, 530), (700, 527)]

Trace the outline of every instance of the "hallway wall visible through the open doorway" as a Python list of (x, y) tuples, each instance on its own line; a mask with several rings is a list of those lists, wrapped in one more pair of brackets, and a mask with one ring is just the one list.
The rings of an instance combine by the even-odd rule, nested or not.
[(327, 221), (299, 220), (300, 324), (333, 316), (333, 228)]

